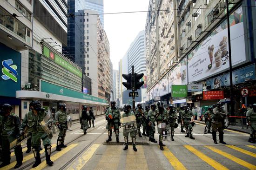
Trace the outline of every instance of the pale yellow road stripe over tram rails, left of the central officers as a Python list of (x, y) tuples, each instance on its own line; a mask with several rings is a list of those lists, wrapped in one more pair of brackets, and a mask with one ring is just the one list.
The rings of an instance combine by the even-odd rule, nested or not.
[(81, 157), (74, 162), (67, 170), (81, 170), (88, 160), (94, 155), (100, 144), (93, 144)]

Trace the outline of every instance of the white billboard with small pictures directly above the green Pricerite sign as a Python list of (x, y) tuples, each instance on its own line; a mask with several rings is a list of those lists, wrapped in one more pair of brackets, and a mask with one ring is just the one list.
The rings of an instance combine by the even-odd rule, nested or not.
[(187, 85), (188, 75), (187, 75), (187, 59), (182, 59), (182, 61), (177, 64), (168, 73), (168, 84), (169, 92), (171, 92), (172, 85)]

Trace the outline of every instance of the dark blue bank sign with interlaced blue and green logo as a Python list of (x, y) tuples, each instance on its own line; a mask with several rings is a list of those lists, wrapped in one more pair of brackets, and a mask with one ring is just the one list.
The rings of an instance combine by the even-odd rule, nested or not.
[(20, 90), (21, 53), (0, 44), (0, 96), (15, 97)]

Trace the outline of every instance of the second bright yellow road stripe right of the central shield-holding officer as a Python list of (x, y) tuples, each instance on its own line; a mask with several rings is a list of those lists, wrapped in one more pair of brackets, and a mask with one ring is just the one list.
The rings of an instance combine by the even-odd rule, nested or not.
[(204, 162), (211, 165), (214, 169), (216, 169), (216, 170), (228, 170), (228, 168), (226, 168), (222, 164), (216, 162), (214, 159), (206, 156), (205, 154), (203, 154), (199, 150), (196, 150), (194, 147), (192, 147), (190, 145), (184, 145), (184, 147), (187, 148), (190, 152), (194, 153), (197, 157), (202, 159)]

